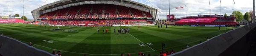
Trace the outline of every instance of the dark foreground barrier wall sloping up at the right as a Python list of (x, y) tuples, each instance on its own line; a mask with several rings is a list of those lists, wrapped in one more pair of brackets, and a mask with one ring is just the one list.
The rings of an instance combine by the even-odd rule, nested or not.
[(170, 56), (247, 56), (256, 39), (256, 23), (213, 37)]

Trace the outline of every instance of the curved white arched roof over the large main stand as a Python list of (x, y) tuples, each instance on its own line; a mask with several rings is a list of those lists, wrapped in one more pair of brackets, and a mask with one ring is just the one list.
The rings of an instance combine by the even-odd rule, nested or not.
[[(50, 1), (50, 0), (47, 0)], [(152, 12), (152, 16), (156, 18), (157, 12), (161, 12), (157, 6), (150, 3), (148, 0), (145, 2), (136, 2), (138, 0), (58, 0), (58, 1), (51, 1), (49, 3), (44, 2), (38, 8), (31, 11), (33, 18), (39, 17), (39, 15), (55, 11), (62, 8), (67, 8), (71, 6), (79, 6), (84, 4), (113, 4), (113, 5), (120, 5), (126, 6), (131, 8), (136, 8), (142, 11)]]

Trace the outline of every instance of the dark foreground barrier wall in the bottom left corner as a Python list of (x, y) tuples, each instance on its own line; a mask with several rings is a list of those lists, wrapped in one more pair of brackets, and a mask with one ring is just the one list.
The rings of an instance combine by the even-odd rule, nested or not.
[(0, 35), (0, 56), (53, 56), (23, 42)]

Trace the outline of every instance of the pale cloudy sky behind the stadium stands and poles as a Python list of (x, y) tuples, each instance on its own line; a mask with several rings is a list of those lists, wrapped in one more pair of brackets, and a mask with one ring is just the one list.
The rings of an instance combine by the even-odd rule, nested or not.
[[(33, 19), (31, 11), (38, 8), (46, 0), (25, 0), (25, 16), (28, 19)], [(56, 0), (51, 0), (51, 2)], [(143, 3), (146, 0), (143, 0)], [(166, 19), (166, 14), (169, 14), (168, 10), (168, 0), (148, 0), (158, 8), (161, 9), (160, 19)], [(207, 15), (209, 14), (209, 1), (211, 1), (211, 14), (220, 14), (220, 0), (170, 0), (170, 13), (175, 14), (175, 17), (185, 17), (196, 16), (197, 14)], [(141, 2), (139, 0), (139, 2)], [(253, 10), (253, 0), (235, 0), (235, 10), (241, 11), (245, 14), (247, 11)], [(47, 3), (50, 3), (49, 0)], [(23, 0), (0, 0), (0, 15), (8, 15), (8, 5), (9, 14), (20, 14), (23, 15)], [(188, 8), (185, 7), (188, 6)], [(13, 7), (15, 6), (15, 7)], [(183, 6), (182, 9), (176, 9), (175, 7)], [(233, 11), (233, 0), (221, 0), (221, 14), (227, 13), (230, 15)], [(15, 10), (13, 11), (13, 8)]]

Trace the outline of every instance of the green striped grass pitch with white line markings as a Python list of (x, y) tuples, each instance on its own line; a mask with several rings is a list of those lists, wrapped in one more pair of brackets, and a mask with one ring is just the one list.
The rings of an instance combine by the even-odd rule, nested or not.
[[(47, 28), (45, 28), (47, 26)], [(100, 29), (99, 33), (97, 28)], [(103, 29), (108, 28), (108, 34)], [(129, 34), (118, 35), (118, 28), (130, 28)], [(60, 27), (63, 30), (44, 25), (39, 27), (32, 24), (0, 24), (0, 34), (12, 37), (21, 42), (32, 42), (35, 48), (52, 53), (52, 50), (61, 50), (62, 56), (120, 56), (120, 53), (131, 53), (137, 56), (138, 52), (157, 56), (161, 51), (162, 43), (166, 44), (164, 51), (186, 48), (204, 42), (207, 37), (212, 38), (225, 33), (225, 27), (189, 27), (171, 26), (163, 28), (157, 26), (122, 26), (122, 27)], [(113, 29), (116, 29), (114, 34)], [(234, 29), (227, 27), (227, 31)], [(125, 55), (126, 56), (126, 55)]]

